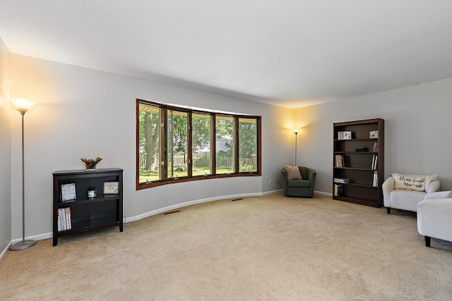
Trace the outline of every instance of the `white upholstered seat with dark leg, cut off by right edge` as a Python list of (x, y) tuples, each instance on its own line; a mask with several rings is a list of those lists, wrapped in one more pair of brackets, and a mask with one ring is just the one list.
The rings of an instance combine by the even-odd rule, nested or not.
[(452, 198), (448, 191), (433, 192), (417, 204), (417, 232), (425, 237), (430, 247), (430, 238), (452, 241)]

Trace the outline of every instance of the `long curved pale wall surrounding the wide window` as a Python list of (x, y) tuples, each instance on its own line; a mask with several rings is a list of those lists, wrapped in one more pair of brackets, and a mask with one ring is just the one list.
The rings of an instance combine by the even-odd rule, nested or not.
[[(124, 215), (133, 219), (186, 202), (280, 189), (280, 168), (293, 158), (292, 110), (148, 80), (11, 54), (11, 96), (38, 102), (25, 114), (26, 233), (52, 231), (52, 173), (124, 168)], [(135, 190), (137, 98), (262, 116), (262, 176), (198, 180)], [(11, 115), (12, 166), (20, 166), (20, 114)], [(21, 237), (20, 168), (11, 170), (13, 239)], [(273, 185), (268, 185), (273, 180)]]

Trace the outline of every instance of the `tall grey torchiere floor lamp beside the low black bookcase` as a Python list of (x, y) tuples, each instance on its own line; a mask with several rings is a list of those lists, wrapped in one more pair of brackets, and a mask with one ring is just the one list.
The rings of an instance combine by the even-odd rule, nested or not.
[(29, 247), (36, 245), (35, 240), (25, 240), (25, 165), (24, 165), (24, 147), (23, 147), (23, 117), (25, 116), (25, 112), (34, 105), (34, 103), (30, 102), (28, 99), (16, 98), (11, 99), (11, 102), (16, 106), (17, 111), (22, 115), (22, 241), (16, 242), (14, 245), (11, 245), (9, 250), (11, 251), (19, 251), (25, 250)]

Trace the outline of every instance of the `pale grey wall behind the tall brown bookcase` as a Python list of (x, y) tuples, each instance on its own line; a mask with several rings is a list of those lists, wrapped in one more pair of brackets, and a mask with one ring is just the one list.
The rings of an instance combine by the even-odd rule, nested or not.
[(303, 129), (302, 164), (317, 171), (315, 190), (331, 193), (333, 123), (385, 120), (385, 178), (391, 173), (438, 174), (441, 190), (452, 189), (452, 78), (294, 111)]

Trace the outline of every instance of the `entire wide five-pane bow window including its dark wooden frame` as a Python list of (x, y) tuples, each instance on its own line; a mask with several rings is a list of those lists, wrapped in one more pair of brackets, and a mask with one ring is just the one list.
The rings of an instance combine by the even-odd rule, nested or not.
[(137, 99), (137, 189), (260, 176), (261, 117), (193, 111)]

